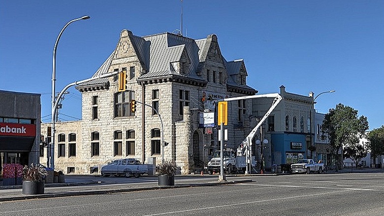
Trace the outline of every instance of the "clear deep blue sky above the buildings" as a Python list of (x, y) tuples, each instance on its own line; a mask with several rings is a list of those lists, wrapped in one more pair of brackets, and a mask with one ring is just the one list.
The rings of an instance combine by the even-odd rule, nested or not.
[[(124, 29), (146, 36), (180, 29), (180, 0), (0, 0), (0, 89), (41, 94), (50, 121), (52, 52), (56, 86), (91, 77)], [(184, 0), (184, 35), (216, 34), (227, 61), (244, 59), (260, 94), (315, 96), (326, 113), (338, 103), (384, 124), (384, 0)], [(62, 120), (81, 118), (81, 94), (65, 96)], [(0, 102), (1, 103), (1, 102)], [(72, 116), (72, 117), (68, 117)]]

